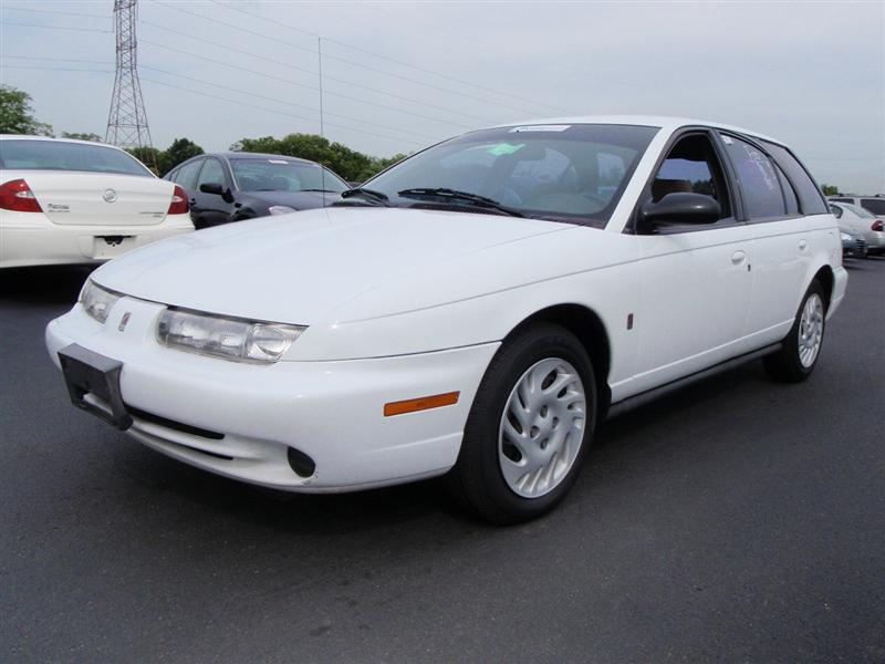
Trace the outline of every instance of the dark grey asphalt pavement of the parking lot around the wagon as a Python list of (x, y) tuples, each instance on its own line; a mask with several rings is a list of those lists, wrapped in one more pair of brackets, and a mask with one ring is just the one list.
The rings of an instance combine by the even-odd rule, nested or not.
[(0, 662), (885, 662), (885, 259), (800, 385), (754, 362), (604, 426), (494, 528), (437, 481), (261, 491), (69, 402), (82, 268), (0, 272)]

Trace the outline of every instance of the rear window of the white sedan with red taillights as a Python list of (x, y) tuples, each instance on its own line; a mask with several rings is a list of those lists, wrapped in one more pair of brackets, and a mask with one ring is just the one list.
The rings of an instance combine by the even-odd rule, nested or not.
[(119, 173), (154, 177), (140, 162), (123, 151), (63, 141), (0, 141), (0, 168)]

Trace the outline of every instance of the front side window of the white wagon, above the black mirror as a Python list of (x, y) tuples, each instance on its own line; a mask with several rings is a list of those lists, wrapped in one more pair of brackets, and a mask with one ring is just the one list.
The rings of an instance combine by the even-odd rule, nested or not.
[(702, 194), (719, 203), (721, 218), (733, 215), (725, 185), (722, 167), (710, 139), (705, 134), (691, 134), (674, 145), (652, 180), (652, 200), (667, 194)]

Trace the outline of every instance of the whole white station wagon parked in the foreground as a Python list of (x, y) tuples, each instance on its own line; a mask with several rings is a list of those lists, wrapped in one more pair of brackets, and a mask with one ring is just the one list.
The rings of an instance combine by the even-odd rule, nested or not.
[(606, 415), (753, 357), (808, 377), (841, 257), (777, 139), (544, 121), (133, 251), (46, 344), (76, 406), (181, 461), (291, 491), (447, 474), (513, 522), (563, 498)]

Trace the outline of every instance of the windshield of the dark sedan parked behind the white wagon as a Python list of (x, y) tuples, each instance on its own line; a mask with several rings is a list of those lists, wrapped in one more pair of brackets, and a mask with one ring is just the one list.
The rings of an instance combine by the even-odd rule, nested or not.
[(347, 189), (347, 183), (327, 168), (288, 159), (231, 158), (230, 167), (241, 191), (333, 191)]

